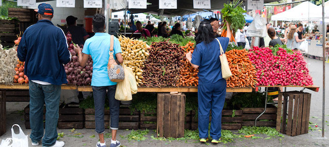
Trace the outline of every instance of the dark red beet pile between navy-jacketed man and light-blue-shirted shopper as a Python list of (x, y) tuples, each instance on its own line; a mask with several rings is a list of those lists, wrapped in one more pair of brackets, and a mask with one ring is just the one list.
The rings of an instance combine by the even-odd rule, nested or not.
[[(87, 64), (84, 68), (79, 65), (77, 53), (73, 49), (72, 35), (66, 34), (67, 43), (69, 44), (69, 50), (72, 55), (72, 60), (64, 66), (66, 73), (66, 80), (69, 84), (75, 84), (78, 86), (85, 86), (91, 84), (92, 77), (92, 60), (88, 58)], [(82, 48), (82, 47), (81, 47)]]

